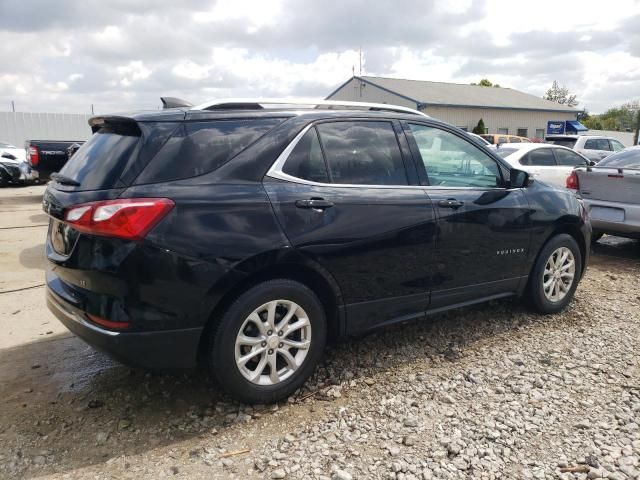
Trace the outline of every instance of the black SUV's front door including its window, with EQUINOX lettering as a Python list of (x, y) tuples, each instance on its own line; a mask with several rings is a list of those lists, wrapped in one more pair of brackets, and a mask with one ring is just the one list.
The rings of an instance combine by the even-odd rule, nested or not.
[(503, 188), (500, 163), (457, 132), (403, 126), (436, 211), (430, 309), (517, 292), (531, 232), (524, 192)]

